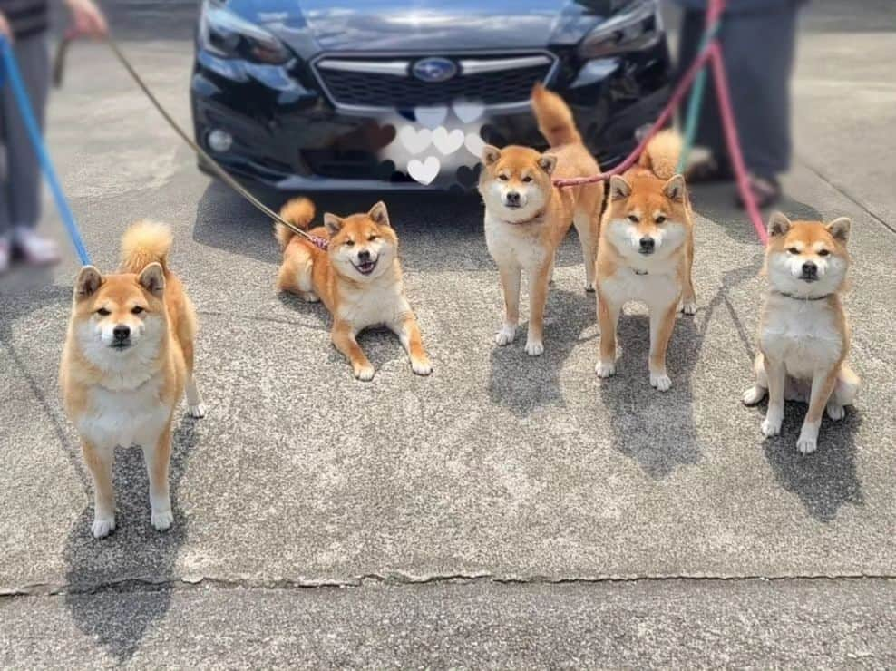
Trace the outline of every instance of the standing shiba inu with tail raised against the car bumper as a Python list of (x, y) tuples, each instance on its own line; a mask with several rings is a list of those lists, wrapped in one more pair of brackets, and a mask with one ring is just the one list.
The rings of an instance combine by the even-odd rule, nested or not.
[(586, 287), (594, 289), (603, 183), (557, 189), (552, 179), (587, 177), (600, 172), (582, 144), (572, 112), (556, 93), (541, 84), (532, 91), (532, 108), (539, 130), (550, 144), (540, 153), (528, 147), (482, 151), (479, 191), (485, 203), (485, 242), (501, 275), (504, 321), (495, 337), (498, 345), (516, 338), (520, 319), (520, 282), (529, 282), (529, 334), (526, 352), (544, 352), (544, 306), (554, 267), (554, 254), (571, 224), (579, 232), (585, 257)]

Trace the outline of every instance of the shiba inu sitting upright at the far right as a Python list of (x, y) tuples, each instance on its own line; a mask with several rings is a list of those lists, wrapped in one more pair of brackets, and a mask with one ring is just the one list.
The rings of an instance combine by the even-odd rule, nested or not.
[(846, 363), (850, 327), (840, 296), (850, 258), (850, 220), (790, 221), (775, 212), (768, 224), (765, 296), (759, 328), (756, 384), (743, 401), (758, 404), (768, 394), (762, 433), (781, 432), (784, 400), (808, 402), (796, 449), (818, 446), (822, 414), (839, 421), (859, 391), (859, 377)]

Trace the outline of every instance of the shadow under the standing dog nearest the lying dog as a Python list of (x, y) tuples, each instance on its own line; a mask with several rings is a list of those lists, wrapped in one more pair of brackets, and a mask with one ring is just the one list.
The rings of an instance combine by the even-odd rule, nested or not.
[(588, 339), (583, 332), (594, 326), (594, 294), (551, 287), (545, 316), (543, 355), (526, 354), (528, 324), (520, 325), (511, 345), (492, 344), (489, 398), (518, 417), (544, 405), (565, 404), (560, 374), (573, 348)]

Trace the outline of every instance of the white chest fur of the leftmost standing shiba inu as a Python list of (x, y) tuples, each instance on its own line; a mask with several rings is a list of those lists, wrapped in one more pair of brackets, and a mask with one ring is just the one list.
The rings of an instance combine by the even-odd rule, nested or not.
[(162, 403), (162, 384), (160, 374), (131, 390), (92, 387), (78, 431), (101, 449), (155, 444), (173, 411)]

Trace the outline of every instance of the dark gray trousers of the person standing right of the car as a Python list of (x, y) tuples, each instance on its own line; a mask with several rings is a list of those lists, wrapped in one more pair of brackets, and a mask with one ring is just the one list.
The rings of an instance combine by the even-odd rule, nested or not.
[[(790, 0), (771, 9), (730, 12), (719, 34), (746, 167), (764, 177), (790, 168), (790, 78), (796, 15), (797, 3)], [(702, 21), (702, 13), (686, 15), (682, 31), (682, 57), (686, 62), (696, 53), (694, 42), (703, 30)], [(709, 147), (719, 160), (726, 160), (712, 84), (706, 88), (700, 127), (698, 143)]]

